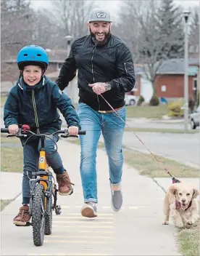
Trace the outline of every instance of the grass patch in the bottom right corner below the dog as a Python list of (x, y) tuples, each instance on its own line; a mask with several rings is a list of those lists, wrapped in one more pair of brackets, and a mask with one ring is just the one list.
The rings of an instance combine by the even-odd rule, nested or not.
[(200, 222), (192, 228), (178, 230), (180, 253), (184, 256), (199, 256), (200, 252)]

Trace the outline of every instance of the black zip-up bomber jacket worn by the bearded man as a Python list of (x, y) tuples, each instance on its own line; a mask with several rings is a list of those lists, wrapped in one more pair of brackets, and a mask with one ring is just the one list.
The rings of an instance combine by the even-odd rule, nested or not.
[(136, 81), (130, 49), (114, 35), (104, 45), (96, 45), (91, 36), (75, 40), (57, 79), (60, 89), (67, 87), (77, 70), (79, 102), (86, 103), (96, 111), (107, 111), (110, 107), (88, 84), (111, 84), (112, 89), (102, 95), (113, 108), (120, 108), (125, 105), (125, 92), (130, 92)]

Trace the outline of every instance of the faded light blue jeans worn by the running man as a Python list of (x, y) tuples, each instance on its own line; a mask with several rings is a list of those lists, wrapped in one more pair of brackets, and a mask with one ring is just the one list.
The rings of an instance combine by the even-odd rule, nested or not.
[[(117, 114), (125, 121), (126, 108), (121, 108)], [(78, 104), (78, 116), (81, 129), (86, 130), (86, 135), (80, 135), (80, 175), (84, 201), (97, 203), (96, 149), (99, 137), (102, 132), (109, 159), (109, 181), (112, 185), (119, 185), (122, 177), (122, 137), (125, 123), (116, 113), (99, 113), (84, 103)]]

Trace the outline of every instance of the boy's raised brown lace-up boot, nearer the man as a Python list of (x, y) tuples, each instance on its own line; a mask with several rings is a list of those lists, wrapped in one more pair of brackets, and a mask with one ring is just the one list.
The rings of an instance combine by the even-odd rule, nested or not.
[(59, 195), (67, 196), (73, 193), (72, 183), (67, 171), (65, 171), (62, 175), (57, 175), (57, 183)]

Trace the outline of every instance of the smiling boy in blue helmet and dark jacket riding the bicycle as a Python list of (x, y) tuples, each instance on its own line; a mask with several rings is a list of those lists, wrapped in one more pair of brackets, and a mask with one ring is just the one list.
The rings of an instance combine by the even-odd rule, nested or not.
[[(23, 47), (17, 56), (17, 65), (20, 69), (20, 77), (17, 84), (9, 92), (7, 102), (4, 105), (4, 123), (9, 133), (16, 135), (19, 125), (28, 124), (33, 132), (46, 133), (61, 129), (62, 121), (59, 119), (57, 108), (61, 111), (68, 124), (70, 135), (78, 135), (80, 123), (72, 102), (67, 95), (62, 93), (52, 81), (44, 76), (49, 60), (46, 51), (36, 45)], [(58, 141), (55, 135), (53, 140)], [(30, 220), (29, 178), (31, 172), (38, 171), (38, 149), (40, 141), (33, 137), (23, 146), (23, 178), (22, 178), (22, 207), (14, 217), (16, 225), (26, 225)], [(55, 150), (54, 142), (46, 140), (46, 160), (57, 175), (57, 183), (60, 195), (70, 195), (72, 185), (67, 170), (62, 165), (62, 159)]]

